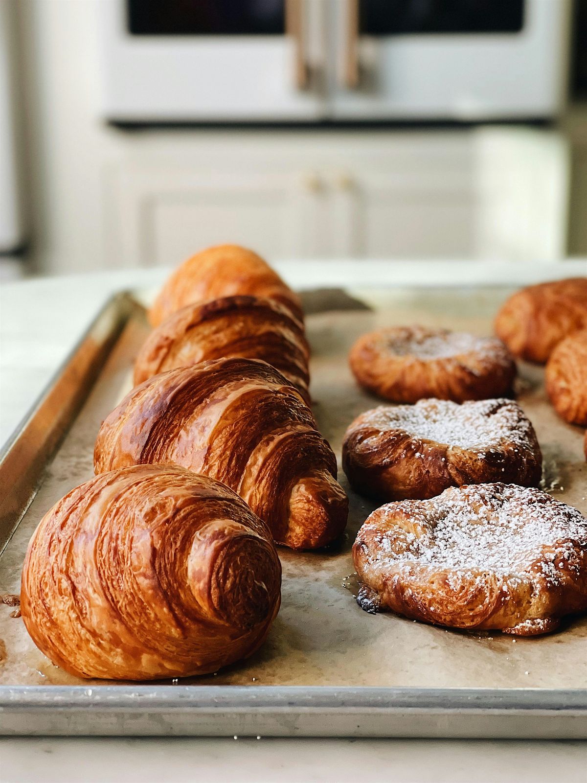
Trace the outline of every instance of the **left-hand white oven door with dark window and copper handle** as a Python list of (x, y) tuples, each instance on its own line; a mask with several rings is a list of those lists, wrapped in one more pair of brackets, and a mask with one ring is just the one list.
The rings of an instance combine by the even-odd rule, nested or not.
[(315, 121), (325, 0), (103, 0), (103, 115)]

